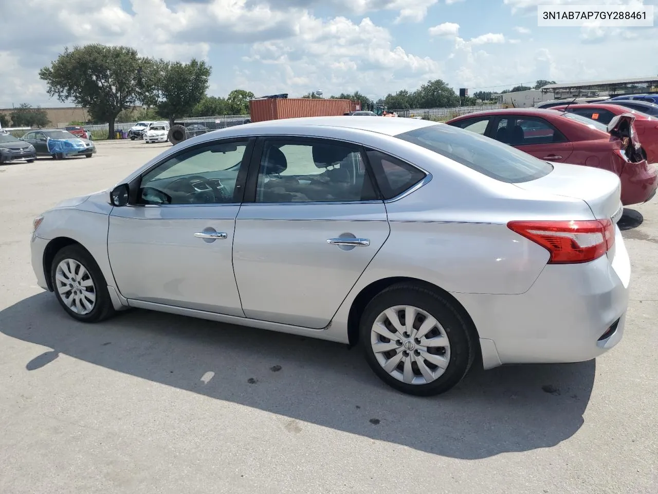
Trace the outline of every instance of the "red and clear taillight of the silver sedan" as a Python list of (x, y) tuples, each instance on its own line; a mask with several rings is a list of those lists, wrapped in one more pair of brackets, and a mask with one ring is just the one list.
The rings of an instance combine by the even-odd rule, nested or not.
[(507, 227), (548, 250), (549, 264), (594, 261), (615, 244), (615, 224), (609, 219), (510, 221)]

